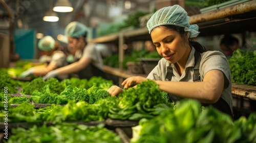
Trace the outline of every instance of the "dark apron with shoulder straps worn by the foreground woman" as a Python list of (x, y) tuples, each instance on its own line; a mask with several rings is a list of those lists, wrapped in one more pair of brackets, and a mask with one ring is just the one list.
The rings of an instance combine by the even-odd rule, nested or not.
[[(195, 66), (194, 66), (194, 74), (193, 74), (193, 81), (194, 82), (200, 82), (200, 74), (199, 74), (199, 66), (200, 66), (200, 62), (201, 62), (201, 55), (199, 52), (195, 51), (194, 54), (195, 57)], [(165, 76), (165, 81), (172, 81), (172, 77), (173, 77), (173, 68), (172, 67), (167, 67), (167, 73)], [(170, 95), (170, 99), (172, 100), (172, 102), (176, 102), (176, 101), (180, 101), (182, 100), (182, 98), (174, 96), (174, 95)], [(232, 112), (231, 109), (229, 107), (229, 105), (227, 104), (227, 102), (220, 98), (216, 103), (214, 104), (203, 104), (201, 103), (202, 106), (214, 106), (216, 109), (220, 110), (223, 113), (226, 113), (228, 115), (230, 115), (232, 117)]]

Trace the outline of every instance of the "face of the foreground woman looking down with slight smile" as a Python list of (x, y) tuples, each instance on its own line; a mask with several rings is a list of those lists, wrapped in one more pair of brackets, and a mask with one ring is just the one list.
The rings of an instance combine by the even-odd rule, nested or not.
[(158, 54), (169, 63), (176, 63), (188, 58), (190, 46), (188, 41), (184, 41), (184, 38), (178, 32), (166, 29), (165, 27), (156, 27), (151, 32), (151, 38)]

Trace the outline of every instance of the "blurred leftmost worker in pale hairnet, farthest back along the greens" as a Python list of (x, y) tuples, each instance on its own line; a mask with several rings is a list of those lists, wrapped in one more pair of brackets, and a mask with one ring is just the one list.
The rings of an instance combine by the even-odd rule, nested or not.
[[(43, 52), (47, 58), (44, 61), (44, 65), (34, 66), (24, 71), (20, 77), (24, 78), (29, 75), (35, 76), (45, 76), (49, 71), (56, 68), (68, 65), (66, 62), (66, 55), (64, 52), (60, 51), (59, 43), (55, 41), (51, 36), (45, 36), (38, 42), (38, 48)], [(67, 78), (67, 75), (62, 75), (58, 77), (60, 80)]]

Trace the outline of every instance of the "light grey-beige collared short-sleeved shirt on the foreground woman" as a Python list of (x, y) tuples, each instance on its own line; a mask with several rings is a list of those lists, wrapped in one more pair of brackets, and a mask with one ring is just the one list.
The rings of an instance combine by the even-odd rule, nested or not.
[[(158, 65), (148, 74), (147, 79), (152, 80), (165, 80), (167, 66), (173, 67), (173, 77), (172, 81), (187, 81), (193, 82), (193, 69), (195, 64), (194, 57), (195, 49), (192, 47), (191, 52), (189, 54), (187, 63), (185, 65), (185, 70), (180, 76), (177, 72), (174, 64), (170, 64), (162, 58), (159, 60)], [(221, 94), (221, 98), (224, 99), (229, 105), (232, 111), (232, 94), (231, 94), (231, 73), (229, 69), (229, 63), (225, 55), (219, 51), (207, 51), (201, 53), (201, 62), (199, 67), (199, 73), (201, 76), (201, 81), (203, 81), (205, 74), (212, 69), (221, 70), (224, 74), (224, 89)], [(172, 96), (172, 95), (171, 95)], [(176, 96), (174, 96), (176, 97)], [(177, 100), (181, 100), (181, 98), (177, 97)]]

